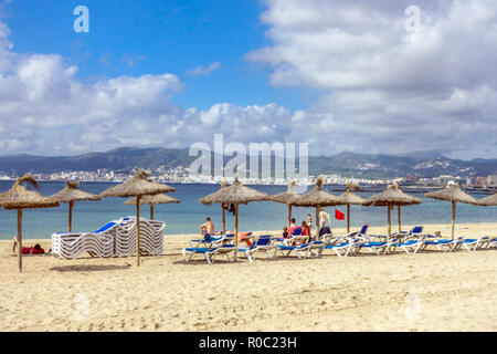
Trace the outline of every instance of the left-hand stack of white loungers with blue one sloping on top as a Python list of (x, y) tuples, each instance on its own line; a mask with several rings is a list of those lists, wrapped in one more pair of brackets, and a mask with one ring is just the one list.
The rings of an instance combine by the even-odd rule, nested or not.
[(92, 257), (113, 257), (117, 228), (118, 220), (115, 220), (93, 232), (55, 232), (52, 253), (62, 259), (76, 259), (85, 252)]

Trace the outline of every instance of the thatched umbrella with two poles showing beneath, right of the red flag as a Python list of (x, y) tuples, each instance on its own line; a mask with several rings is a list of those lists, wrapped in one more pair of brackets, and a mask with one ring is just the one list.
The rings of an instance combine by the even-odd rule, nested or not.
[(400, 207), (402, 206), (411, 206), (421, 204), (422, 200), (416, 197), (412, 197), (405, 192), (403, 192), (396, 184), (388, 186), (385, 190), (382, 192), (372, 196), (367, 199), (363, 205), (364, 206), (374, 206), (374, 207), (387, 207), (388, 209), (388, 235), (389, 237), (392, 235), (392, 219), (391, 219), (391, 210), (393, 206), (399, 208), (399, 231), (401, 231), (401, 215)]

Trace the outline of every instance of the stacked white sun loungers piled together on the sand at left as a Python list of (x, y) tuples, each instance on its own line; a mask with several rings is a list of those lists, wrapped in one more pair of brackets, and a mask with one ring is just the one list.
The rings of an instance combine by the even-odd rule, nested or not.
[[(140, 254), (160, 256), (163, 252), (166, 223), (140, 218)], [(88, 252), (93, 257), (130, 257), (136, 254), (136, 217), (107, 222), (91, 232), (55, 232), (52, 253), (63, 259), (76, 259)]]

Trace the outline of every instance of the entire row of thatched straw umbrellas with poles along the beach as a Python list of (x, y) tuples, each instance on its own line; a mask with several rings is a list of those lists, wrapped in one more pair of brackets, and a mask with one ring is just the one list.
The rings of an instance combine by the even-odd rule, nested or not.
[[(68, 204), (68, 231), (72, 230), (72, 211), (75, 201), (80, 200), (98, 200), (102, 197), (133, 197), (127, 200), (126, 205), (136, 205), (136, 220), (137, 225), (137, 264), (140, 264), (139, 259), (139, 220), (140, 220), (140, 205), (150, 205), (150, 219), (154, 219), (154, 205), (156, 204), (170, 204), (179, 202), (178, 199), (167, 196), (165, 194), (175, 191), (173, 187), (165, 184), (150, 180), (149, 173), (138, 169), (137, 174), (129, 180), (121, 183), (117, 186), (107, 188), (101, 195), (94, 195), (81, 190), (75, 181), (66, 181), (66, 186), (61, 191), (52, 195), (51, 197), (44, 197), (39, 192), (38, 181), (31, 175), (24, 175), (18, 178), (11, 189), (7, 192), (0, 194), (0, 206), (4, 209), (18, 210), (18, 268), (22, 271), (22, 210), (27, 208), (50, 208), (57, 207), (60, 202)], [(35, 187), (35, 190), (30, 190), (22, 186), (22, 183), (31, 184)], [(398, 207), (399, 212), (399, 231), (401, 231), (401, 207), (417, 205), (422, 200), (416, 197), (412, 197), (403, 192), (396, 184), (387, 187), (387, 189), (378, 195), (372, 196), (369, 199), (363, 199), (355, 195), (350, 188), (347, 189), (341, 196), (335, 196), (330, 192), (322, 190), (322, 179), (318, 178), (316, 186), (307, 194), (297, 194), (293, 187), (295, 183), (292, 183), (288, 190), (275, 196), (268, 196), (265, 192), (242, 185), (237, 177), (231, 185), (223, 183), (221, 188), (208, 195), (199, 201), (203, 205), (220, 204), (223, 211), (223, 233), (225, 232), (225, 206), (235, 206), (235, 249), (237, 249), (239, 241), (239, 207), (240, 205), (246, 205), (251, 201), (264, 201), (271, 200), (288, 206), (288, 223), (292, 218), (292, 207), (314, 207), (316, 209), (316, 237), (319, 236), (319, 216), (318, 212), (324, 207), (330, 206), (347, 206), (347, 232), (350, 231), (350, 206), (376, 206), (387, 207), (388, 211), (388, 236), (391, 236), (391, 211), (394, 207)], [(455, 211), (457, 202), (465, 202), (480, 206), (497, 206), (497, 194), (476, 200), (465, 191), (463, 191), (456, 184), (447, 186), (447, 188), (431, 191), (425, 194), (429, 198), (435, 198), (440, 200), (451, 201), (453, 205), (452, 215), (452, 238), (454, 238), (455, 229)], [(235, 254), (236, 259), (236, 254)]]

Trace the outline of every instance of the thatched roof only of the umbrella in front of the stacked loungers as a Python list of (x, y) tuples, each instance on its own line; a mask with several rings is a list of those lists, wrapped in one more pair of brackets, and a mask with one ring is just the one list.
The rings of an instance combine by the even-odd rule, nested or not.
[(136, 197), (176, 190), (173, 187), (149, 180), (148, 176), (149, 171), (139, 168), (131, 179), (104, 190), (101, 197)]

